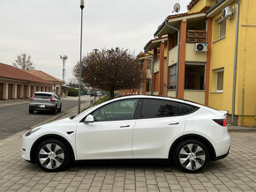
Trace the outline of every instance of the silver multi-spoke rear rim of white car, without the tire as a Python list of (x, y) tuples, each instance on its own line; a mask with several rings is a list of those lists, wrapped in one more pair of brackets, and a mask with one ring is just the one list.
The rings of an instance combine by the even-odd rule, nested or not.
[(186, 144), (179, 151), (179, 162), (187, 170), (197, 170), (204, 166), (206, 152), (198, 144)]

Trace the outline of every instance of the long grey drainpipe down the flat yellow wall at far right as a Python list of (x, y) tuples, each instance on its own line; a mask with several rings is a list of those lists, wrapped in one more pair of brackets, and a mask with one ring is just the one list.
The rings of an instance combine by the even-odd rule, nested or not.
[(235, 41), (235, 56), (234, 56), (234, 74), (233, 74), (233, 92), (232, 92), (232, 125), (234, 125), (235, 114), (235, 93), (236, 93), (236, 76), (237, 76), (237, 39), (238, 39), (238, 19), (239, 19), (239, 2), (237, 3), (237, 18), (236, 18), (236, 41)]

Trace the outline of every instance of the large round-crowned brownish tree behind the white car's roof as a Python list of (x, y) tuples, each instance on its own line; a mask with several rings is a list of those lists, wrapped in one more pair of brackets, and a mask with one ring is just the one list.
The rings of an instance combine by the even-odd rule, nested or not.
[[(79, 78), (79, 63), (73, 73)], [(127, 49), (102, 49), (82, 59), (83, 83), (109, 91), (111, 99), (115, 90), (137, 88), (145, 79), (141, 64)]]

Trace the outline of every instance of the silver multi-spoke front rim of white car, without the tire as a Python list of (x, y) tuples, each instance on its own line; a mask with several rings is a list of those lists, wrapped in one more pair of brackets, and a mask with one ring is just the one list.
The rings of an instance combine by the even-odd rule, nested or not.
[(45, 144), (39, 151), (39, 162), (46, 169), (56, 169), (64, 162), (64, 150), (58, 144)]

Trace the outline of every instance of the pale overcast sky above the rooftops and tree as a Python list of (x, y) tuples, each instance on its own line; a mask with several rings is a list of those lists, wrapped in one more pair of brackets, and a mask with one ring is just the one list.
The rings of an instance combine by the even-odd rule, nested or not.
[[(164, 18), (191, 0), (85, 0), (83, 55), (94, 48), (128, 48), (139, 54)], [(0, 63), (25, 52), (36, 70), (62, 79), (60, 55), (68, 55), (66, 81), (79, 61), (79, 0), (1, 0)]]

